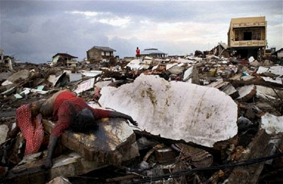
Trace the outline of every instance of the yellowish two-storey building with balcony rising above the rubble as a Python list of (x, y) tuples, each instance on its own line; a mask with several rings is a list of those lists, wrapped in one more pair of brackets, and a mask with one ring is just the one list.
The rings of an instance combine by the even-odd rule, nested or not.
[(265, 16), (232, 18), (228, 45), (242, 58), (265, 56), (267, 21)]

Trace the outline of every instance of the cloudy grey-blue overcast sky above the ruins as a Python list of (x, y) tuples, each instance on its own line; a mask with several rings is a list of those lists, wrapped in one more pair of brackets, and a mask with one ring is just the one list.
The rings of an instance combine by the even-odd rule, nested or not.
[(265, 16), (269, 47), (283, 47), (283, 1), (2, 1), (0, 49), (21, 62), (57, 52), (83, 59), (93, 45), (134, 56), (158, 48), (170, 55), (227, 43), (231, 18)]

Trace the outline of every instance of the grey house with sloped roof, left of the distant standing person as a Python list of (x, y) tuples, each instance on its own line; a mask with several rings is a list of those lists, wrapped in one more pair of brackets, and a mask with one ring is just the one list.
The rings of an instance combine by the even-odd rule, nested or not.
[(91, 63), (101, 62), (103, 59), (114, 57), (113, 52), (116, 52), (116, 50), (110, 47), (93, 46), (90, 50), (86, 51), (86, 56)]

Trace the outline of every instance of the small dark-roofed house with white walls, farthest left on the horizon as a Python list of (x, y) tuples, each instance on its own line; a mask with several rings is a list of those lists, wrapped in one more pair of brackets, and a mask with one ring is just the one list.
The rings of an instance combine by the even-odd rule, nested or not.
[(52, 65), (59, 63), (67, 67), (76, 67), (76, 64), (78, 64), (76, 58), (78, 57), (67, 53), (57, 53), (52, 57)]

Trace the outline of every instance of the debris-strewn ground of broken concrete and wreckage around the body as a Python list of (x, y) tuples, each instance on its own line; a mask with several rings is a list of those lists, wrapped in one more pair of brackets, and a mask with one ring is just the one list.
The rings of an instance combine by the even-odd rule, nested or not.
[[(1, 182), (282, 183), (282, 77), (280, 61), (214, 55), (3, 67)], [(24, 157), (23, 135), (10, 138), (15, 111), (66, 88), (139, 126), (112, 118), (88, 134), (67, 130), (45, 170), (54, 122), (43, 120), (40, 151)]]

